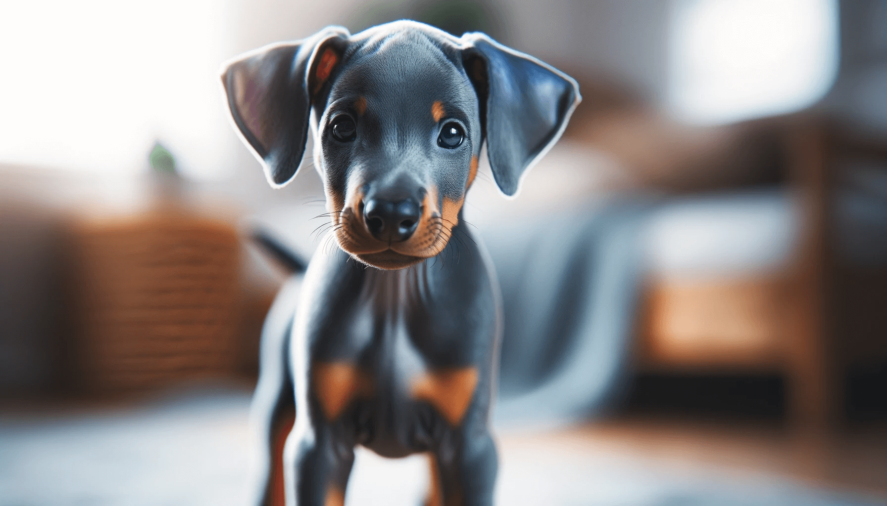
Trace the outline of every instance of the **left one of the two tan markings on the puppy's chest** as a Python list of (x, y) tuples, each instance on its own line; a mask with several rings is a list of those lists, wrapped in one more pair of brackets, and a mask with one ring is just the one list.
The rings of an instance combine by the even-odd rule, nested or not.
[(373, 379), (350, 363), (314, 362), (311, 379), (320, 408), (331, 422), (341, 415), (350, 401), (373, 393)]

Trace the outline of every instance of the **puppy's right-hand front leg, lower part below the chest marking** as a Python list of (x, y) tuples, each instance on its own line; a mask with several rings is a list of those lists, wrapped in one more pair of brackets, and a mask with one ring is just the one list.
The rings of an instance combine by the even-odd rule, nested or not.
[(441, 441), (432, 476), (439, 497), (431, 497), (429, 505), (491, 506), (496, 485), (498, 457), (496, 443), (486, 428), (480, 431), (459, 429)]

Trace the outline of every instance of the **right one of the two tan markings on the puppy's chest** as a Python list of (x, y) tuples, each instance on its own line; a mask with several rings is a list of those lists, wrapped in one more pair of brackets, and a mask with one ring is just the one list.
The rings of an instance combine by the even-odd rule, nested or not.
[(459, 425), (477, 387), (477, 369), (442, 369), (412, 381), (412, 397), (428, 401), (452, 426)]

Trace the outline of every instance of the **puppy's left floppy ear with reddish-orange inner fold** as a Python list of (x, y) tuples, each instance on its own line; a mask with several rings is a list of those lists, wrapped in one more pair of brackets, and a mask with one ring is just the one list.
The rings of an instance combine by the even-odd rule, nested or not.
[(262, 162), (268, 183), (289, 183), (302, 164), (311, 102), (328, 90), (349, 37), (327, 27), (294, 43), (277, 43), (224, 64), (232, 120)]

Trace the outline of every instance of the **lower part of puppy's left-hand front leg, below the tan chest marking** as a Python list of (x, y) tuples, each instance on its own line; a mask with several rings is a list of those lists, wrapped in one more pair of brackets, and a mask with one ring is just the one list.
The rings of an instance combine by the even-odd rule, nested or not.
[(284, 456), (287, 506), (342, 506), (354, 447), (325, 425), (295, 430)]

